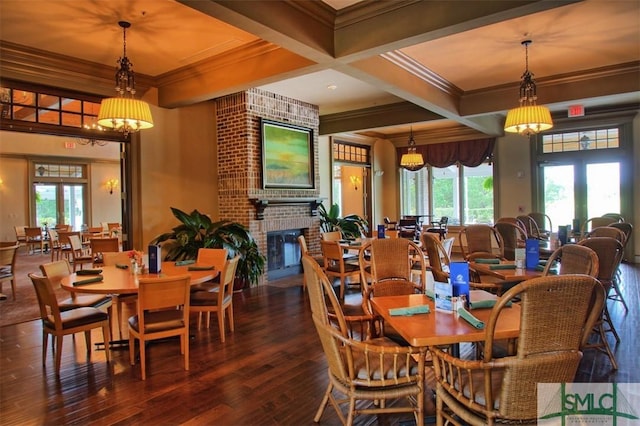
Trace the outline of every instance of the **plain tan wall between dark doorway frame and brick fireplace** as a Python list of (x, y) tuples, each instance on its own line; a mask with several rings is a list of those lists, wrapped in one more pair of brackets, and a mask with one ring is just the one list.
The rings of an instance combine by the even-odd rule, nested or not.
[(171, 207), (219, 219), (214, 103), (154, 108), (153, 116), (155, 126), (140, 133), (134, 159), (140, 174), (134, 211), (140, 220), (134, 220), (133, 242), (139, 250), (178, 225)]

